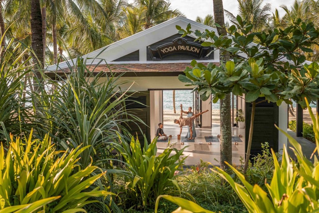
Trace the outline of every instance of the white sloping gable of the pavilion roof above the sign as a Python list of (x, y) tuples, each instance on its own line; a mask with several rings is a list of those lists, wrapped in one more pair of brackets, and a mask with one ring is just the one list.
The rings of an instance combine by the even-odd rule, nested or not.
[[(161, 24), (158, 24), (154, 27), (150, 27), (146, 30), (143, 30), (137, 34), (131, 35), (120, 41), (114, 42), (106, 47), (97, 49), (82, 57), (84, 59), (87, 59), (86, 64), (97, 64), (97, 63), (106, 64), (106, 63), (112, 62), (113, 60), (117, 58), (125, 56), (131, 52), (139, 50), (140, 60), (138, 63), (143, 63), (143, 62), (146, 63), (146, 47), (147, 46), (155, 42), (158, 42), (162, 39), (165, 39), (171, 35), (177, 34), (178, 30), (176, 29), (176, 25), (179, 25), (182, 28), (186, 28), (189, 23), (191, 24), (191, 27), (193, 30), (198, 29), (200, 31), (204, 31), (205, 29), (209, 29), (209, 30), (214, 30), (217, 33), (217, 30), (215, 28), (206, 26), (204, 24), (200, 24), (196, 21), (193, 21), (184, 17), (176, 17), (174, 19), (170, 19)], [(73, 59), (73, 60), (69, 60), (68, 62), (69, 64), (73, 65), (75, 61), (76, 60)], [(62, 70), (65, 68), (68, 68), (68, 65), (66, 62), (61, 62), (58, 64), (58, 70)], [(57, 66), (50, 65), (47, 67), (47, 70), (55, 71), (57, 70)]]

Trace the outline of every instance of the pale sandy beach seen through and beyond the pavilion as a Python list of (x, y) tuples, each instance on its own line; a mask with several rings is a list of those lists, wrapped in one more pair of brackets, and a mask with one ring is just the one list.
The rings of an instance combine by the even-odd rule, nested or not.
[[(178, 119), (180, 114), (179, 110), (176, 110), (176, 114), (174, 114), (173, 110), (163, 110), (163, 121), (164, 125), (166, 124), (172, 124), (174, 119)], [(315, 114), (316, 109), (313, 108), (312, 112)], [(235, 111), (236, 113), (236, 111)], [(294, 115), (294, 116), (293, 116)], [(296, 120), (296, 108), (294, 108), (293, 115), (289, 113), (289, 121), (290, 120)], [(303, 121), (312, 124), (312, 120), (310, 118), (310, 114), (308, 109), (303, 110)], [(211, 113), (211, 122), (212, 124), (219, 124), (220, 123), (220, 115), (219, 115), (219, 110), (212, 110)]]

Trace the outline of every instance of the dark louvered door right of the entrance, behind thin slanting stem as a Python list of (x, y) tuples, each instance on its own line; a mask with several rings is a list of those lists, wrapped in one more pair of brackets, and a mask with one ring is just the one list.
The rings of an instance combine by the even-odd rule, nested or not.
[[(264, 97), (259, 97), (256, 103), (265, 100)], [(245, 153), (247, 152), (250, 117), (251, 117), (251, 103), (246, 103), (246, 129), (245, 129)], [(268, 142), (270, 148), (278, 152), (278, 106), (276, 103), (268, 103), (267, 101), (256, 104), (255, 121), (253, 139), (250, 150), (250, 159), (258, 153), (262, 153), (261, 143)]]

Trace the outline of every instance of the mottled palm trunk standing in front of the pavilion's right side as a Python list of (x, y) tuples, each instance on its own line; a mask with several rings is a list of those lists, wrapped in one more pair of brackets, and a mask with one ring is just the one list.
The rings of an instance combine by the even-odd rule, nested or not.
[[(224, 21), (224, 8), (222, 0), (213, 0), (215, 23), (219, 35), (227, 35)], [(229, 61), (229, 54), (219, 54), (220, 63), (226, 64)], [(225, 169), (225, 161), (232, 164), (232, 126), (230, 115), (230, 94), (220, 100), (220, 167)]]

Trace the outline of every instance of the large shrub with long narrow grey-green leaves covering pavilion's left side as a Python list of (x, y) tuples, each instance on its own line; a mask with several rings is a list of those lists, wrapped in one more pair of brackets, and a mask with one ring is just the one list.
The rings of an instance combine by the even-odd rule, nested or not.
[(121, 75), (94, 72), (94, 67), (88, 68), (79, 57), (76, 63), (75, 67), (68, 64), (70, 73), (65, 79), (46, 80), (48, 88), (32, 94), (33, 106), (37, 106), (33, 125), (39, 138), (48, 132), (65, 150), (90, 145), (80, 153), (78, 163), (82, 168), (93, 159), (94, 165), (110, 169), (106, 160), (112, 157), (109, 142), (118, 134), (130, 139), (124, 125), (127, 121), (144, 123), (126, 110), (125, 101), (130, 95), (126, 95), (128, 90), (121, 90), (125, 82), (117, 82)]

